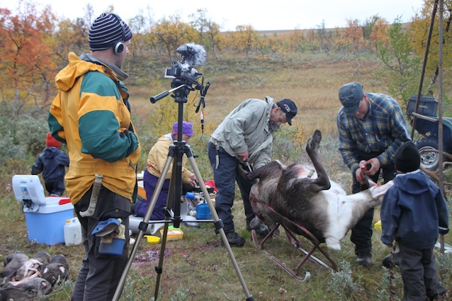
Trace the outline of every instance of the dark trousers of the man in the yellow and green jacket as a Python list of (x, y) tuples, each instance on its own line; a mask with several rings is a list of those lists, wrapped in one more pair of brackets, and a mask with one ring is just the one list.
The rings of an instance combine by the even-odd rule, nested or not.
[[(81, 223), (85, 256), (72, 291), (72, 301), (112, 300), (128, 262), (130, 200), (102, 186), (94, 215), (81, 217), (79, 212), (88, 208), (91, 191), (92, 187), (79, 200), (79, 203), (74, 205)], [(99, 254), (101, 237), (91, 236), (97, 223), (101, 220), (108, 220), (109, 217), (121, 218), (125, 225), (125, 244), (123, 254), (119, 256)]]

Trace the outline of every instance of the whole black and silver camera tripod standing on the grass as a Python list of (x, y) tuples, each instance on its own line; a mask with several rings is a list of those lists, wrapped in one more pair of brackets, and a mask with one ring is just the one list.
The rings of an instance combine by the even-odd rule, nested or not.
[[(208, 204), (208, 207), (209, 207), (210, 212), (212, 213), (212, 217), (213, 217), (213, 220), (197, 220), (197, 222), (213, 222), (214, 223), (215, 230), (218, 233), (220, 233), (222, 242), (224, 243), (224, 245), (227, 249), (227, 254), (229, 254), (232, 264), (237, 273), (237, 276), (239, 277), (239, 281), (240, 281), (242, 288), (244, 290), (244, 293), (246, 295), (246, 300), (253, 301), (254, 297), (249, 294), (249, 290), (247, 288), (247, 285), (244, 282), (242, 273), (240, 272), (239, 266), (237, 265), (237, 261), (235, 260), (235, 256), (232, 253), (231, 246), (230, 246), (229, 242), (227, 241), (227, 237), (226, 237), (225, 231), (223, 229), (222, 220), (220, 220), (220, 218), (217, 215), (217, 212), (215, 211), (215, 207), (213, 206), (213, 203), (212, 203), (212, 200), (210, 199), (208, 190), (205, 187), (203, 178), (200, 175), (198, 166), (196, 166), (196, 162), (193, 157), (193, 152), (191, 151), (190, 145), (186, 144), (186, 142), (182, 140), (183, 103), (187, 102), (186, 96), (188, 96), (188, 93), (190, 91), (193, 91), (194, 89), (191, 86), (188, 86), (187, 84), (183, 84), (183, 81), (181, 82), (179, 79), (174, 79), (173, 82), (171, 83), (171, 87), (173, 87), (174, 89), (172, 89), (171, 91), (164, 91), (162, 93), (159, 93), (157, 96), (154, 96), (153, 98), (151, 98), (151, 102), (154, 103), (154, 102), (158, 101), (160, 98), (163, 98), (164, 96), (167, 96), (170, 92), (174, 91), (174, 95), (172, 95), (172, 96), (175, 98), (175, 101), (176, 101), (176, 103), (178, 103), (178, 106), (179, 106), (178, 107), (177, 140), (174, 141), (174, 144), (172, 144), (169, 147), (168, 157), (164, 164), (164, 168), (162, 170), (162, 175), (160, 176), (159, 180), (157, 181), (157, 186), (154, 190), (154, 193), (152, 194), (151, 200), (149, 201), (149, 207), (147, 208), (145, 217), (143, 218), (143, 221), (140, 222), (140, 226), (138, 227), (138, 229), (140, 229), (140, 232), (137, 234), (137, 240), (136, 240), (135, 244), (133, 245), (128, 263), (125, 267), (123, 275), (120, 278), (120, 282), (118, 283), (118, 288), (116, 288), (116, 290), (115, 290), (115, 295), (113, 296), (113, 300), (114, 301), (119, 300), (120, 294), (122, 293), (122, 290), (123, 290), (123, 287), (125, 284), (125, 279), (127, 277), (128, 271), (130, 270), (132, 261), (135, 258), (135, 254), (137, 252), (138, 246), (140, 245), (140, 241), (147, 230), (147, 226), (152, 223), (164, 222), (164, 231), (163, 231), (162, 240), (161, 240), (162, 246), (160, 249), (159, 263), (158, 263), (158, 266), (155, 267), (155, 271), (157, 272), (157, 281), (156, 281), (155, 290), (154, 290), (154, 300), (157, 300), (158, 295), (159, 295), (160, 278), (161, 278), (162, 272), (163, 272), (164, 251), (165, 251), (165, 246), (166, 246), (166, 237), (168, 234), (169, 223), (172, 222), (174, 224), (174, 227), (179, 227), (181, 222), (183, 222), (183, 220), (181, 219), (181, 216), (180, 216), (180, 210), (181, 210), (180, 203), (181, 203), (181, 191), (182, 191), (181, 178), (182, 178), (182, 157), (183, 157), (183, 154), (186, 154), (188, 161), (191, 164), (193, 174), (196, 175), (196, 179), (199, 183), (201, 191), (203, 192), (203, 194), (205, 196), (206, 203)], [(207, 89), (204, 89), (203, 91), (201, 91), (202, 99), (205, 96), (206, 90)], [(163, 186), (165, 177), (168, 174), (171, 164), (173, 164), (173, 166), (172, 166), (172, 174), (171, 174), (171, 180), (170, 180), (170, 185), (169, 185), (169, 195), (168, 195), (168, 199), (166, 201), (165, 220), (149, 222), (149, 218), (152, 215), (152, 211), (154, 211), (154, 207), (157, 203), (157, 198), (160, 194), (160, 191), (162, 191), (162, 186)], [(174, 213), (171, 210), (171, 208), (174, 208)], [(191, 221), (191, 222), (193, 222), (193, 221)]]

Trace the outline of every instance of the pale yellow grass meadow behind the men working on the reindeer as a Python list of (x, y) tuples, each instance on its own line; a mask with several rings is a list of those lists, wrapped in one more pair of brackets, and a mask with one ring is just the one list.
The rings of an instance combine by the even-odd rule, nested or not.
[[(300, 62), (285, 68), (263, 68), (259, 72), (225, 75), (215, 74), (205, 98), (205, 129), (211, 132), (225, 116), (247, 98), (271, 96), (276, 101), (282, 98), (292, 99), (298, 106), (298, 115), (294, 125), (303, 125), (305, 132), (319, 129), (322, 132), (337, 133), (336, 115), (341, 107), (337, 93), (342, 84), (360, 81), (366, 91), (388, 93), (385, 83), (378, 79), (381, 68), (378, 61), (356, 62), (352, 59), (330, 59), (326, 55), (317, 55), (298, 59)], [(213, 62), (212, 64), (217, 64)], [(259, 64), (253, 62), (252, 64)], [(247, 69), (247, 67), (244, 67)], [(210, 76), (205, 72), (206, 81)], [(152, 104), (149, 97), (171, 89), (171, 80), (159, 82), (161, 90), (144, 91), (142, 87), (130, 87), (132, 108), (135, 113), (154, 115), (152, 120), (160, 120), (157, 110), (164, 106), (174, 111), (177, 106), (173, 98), (163, 98)], [(150, 90), (150, 89), (149, 89)], [(198, 123), (199, 116), (194, 113), (193, 101), (197, 101), (199, 92), (193, 91), (184, 106), (188, 120)], [(157, 115), (155, 115), (157, 114)]]

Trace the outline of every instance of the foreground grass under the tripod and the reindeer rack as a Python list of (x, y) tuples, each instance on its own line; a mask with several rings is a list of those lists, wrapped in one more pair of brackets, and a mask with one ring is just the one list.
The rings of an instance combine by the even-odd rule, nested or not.
[[(14, 227), (0, 229), (0, 254), (6, 256), (13, 251), (23, 251), (30, 256), (38, 251), (47, 251), (51, 255), (64, 254), (71, 266), (71, 278), (64, 285), (55, 287), (46, 300), (69, 300), (83, 256), (82, 246), (46, 246), (29, 242), (26, 220), (21, 214), (20, 205), (1, 200), (1, 206), (5, 209), (0, 213), (1, 220), (11, 221), (9, 225)], [(244, 212), (239, 201), (233, 212), (237, 232), (247, 242), (242, 248), (232, 248), (232, 253), (245, 286), (254, 300), (390, 300), (388, 271), (381, 266), (381, 261), (390, 250), (379, 242), (380, 231), (375, 230), (373, 233), (371, 268), (363, 268), (354, 263), (354, 246), (347, 235), (341, 242), (341, 251), (328, 250), (322, 244), (338, 264), (339, 271), (333, 273), (317, 263), (307, 261), (298, 275), (303, 277), (309, 271), (311, 278), (307, 282), (300, 282), (256, 248), (250, 233), (244, 229)], [(378, 210), (375, 210), (376, 220)], [(166, 242), (163, 273), (158, 288), (159, 300), (244, 300), (246, 295), (239, 276), (227, 249), (220, 244), (220, 237), (214, 233), (213, 224), (203, 223), (199, 228), (181, 225), (181, 229), (183, 239)], [(265, 248), (276, 254), (286, 266), (295, 269), (304, 254), (290, 246), (283, 233), (282, 231), (279, 237), (267, 242)], [(304, 249), (312, 247), (307, 239), (299, 239)], [(447, 236), (446, 239), (450, 242)], [(160, 248), (161, 244), (148, 244), (146, 239), (142, 239), (137, 246), (137, 254), (132, 261), (120, 300), (151, 300), (156, 288), (155, 267), (158, 265)], [(315, 251), (314, 255), (327, 263), (320, 252)], [(451, 255), (439, 255), (439, 259), (441, 279), (450, 288), (451, 272), (448, 267), (452, 261)], [(398, 268), (394, 269), (394, 273), (396, 288), (392, 300), (400, 300), (402, 288)]]

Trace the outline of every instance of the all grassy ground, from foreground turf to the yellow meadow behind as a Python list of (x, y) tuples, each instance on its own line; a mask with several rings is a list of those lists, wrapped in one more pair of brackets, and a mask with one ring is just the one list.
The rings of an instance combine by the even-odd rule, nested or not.
[[(247, 63), (237, 59), (235, 62), (208, 64), (202, 70), (207, 80), (212, 82), (205, 99), (205, 131), (200, 131), (199, 116), (194, 113), (193, 101), (198, 97), (196, 92), (189, 97), (185, 107), (187, 118), (184, 118), (195, 125), (191, 144), (193, 152), (199, 155), (196, 162), (201, 174), (205, 179), (211, 178), (205, 145), (216, 125), (244, 99), (269, 95), (276, 100), (291, 98), (299, 108), (293, 126), (283, 126), (278, 133), (273, 157), (286, 162), (307, 160), (303, 144), (313, 130), (319, 129), (324, 136), (320, 157), (331, 178), (349, 191), (350, 172), (337, 152), (335, 116), (340, 107), (337, 91), (346, 82), (361, 81), (366, 91), (385, 93), (385, 79), (377, 75), (379, 69), (380, 65), (375, 59), (342, 59), (326, 55)], [(132, 84), (129, 89), (132, 113), (142, 142), (141, 166), (144, 166), (149, 148), (159, 135), (168, 131), (168, 125), (176, 120), (177, 111), (171, 99), (149, 103), (150, 96), (170, 89), (167, 79), (156, 77), (147, 84)], [(172, 115), (164, 115), (165, 111), (171, 111)], [(18, 161), (11, 164), (1, 176), (0, 184), (4, 192), (0, 194), (0, 259), (13, 251), (23, 251), (29, 256), (42, 250), (51, 255), (64, 254), (71, 266), (71, 280), (55, 288), (47, 300), (69, 300), (84, 251), (82, 246), (45, 246), (28, 241), (21, 205), (16, 202), (11, 191), (11, 177), (14, 174), (28, 174), (30, 164), (33, 164), (33, 159)], [(309, 271), (312, 277), (300, 283), (254, 246), (250, 233), (245, 230), (239, 193), (233, 213), (237, 232), (245, 237), (247, 243), (232, 251), (254, 300), (390, 300), (388, 272), (380, 264), (390, 250), (380, 243), (378, 230), (373, 233), (371, 268), (354, 263), (354, 246), (347, 235), (341, 242), (341, 251), (328, 251), (339, 265), (339, 272), (332, 273), (308, 261), (301, 268), (300, 275)], [(375, 222), (377, 220), (378, 208), (375, 210)], [(213, 225), (207, 223), (200, 228), (181, 227), (183, 239), (166, 244), (159, 300), (244, 300), (246, 295), (242, 285), (225, 247), (220, 245), (220, 237), (214, 233)], [(448, 244), (452, 244), (448, 235), (445, 238)], [(302, 241), (307, 249), (310, 242), (303, 238)], [(300, 252), (288, 244), (283, 234), (266, 246), (287, 266), (294, 267), (300, 262)], [(156, 285), (154, 268), (157, 266), (159, 250), (159, 244), (147, 244), (145, 239), (140, 242), (121, 300), (150, 300), (153, 297)], [(321, 255), (317, 256), (322, 259)], [(441, 281), (446, 287), (452, 288), (451, 272), (448, 271), (452, 263), (451, 256), (439, 255), (437, 260)], [(397, 268), (394, 273), (396, 285), (391, 300), (400, 300), (402, 288), (400, 277), (397, 278)]]

